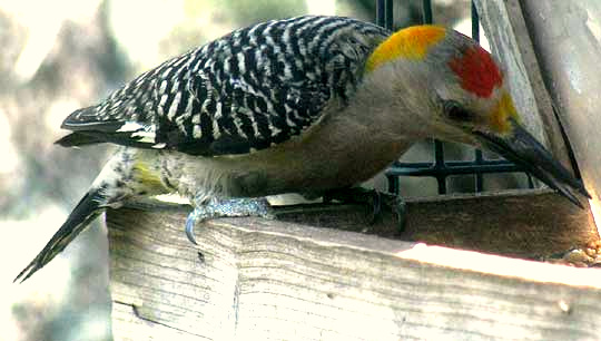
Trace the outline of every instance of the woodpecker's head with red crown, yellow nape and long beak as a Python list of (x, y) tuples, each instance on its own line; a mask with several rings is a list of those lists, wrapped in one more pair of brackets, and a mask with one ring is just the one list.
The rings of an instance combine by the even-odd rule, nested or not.
[(589, 196), (522, 126), (502, 68), (473, 39), (437, 26), (406, 28), (374, 50), (366, 72), (388, 80), (416, 134), (493, 150), (581, 207), (574, 193)]

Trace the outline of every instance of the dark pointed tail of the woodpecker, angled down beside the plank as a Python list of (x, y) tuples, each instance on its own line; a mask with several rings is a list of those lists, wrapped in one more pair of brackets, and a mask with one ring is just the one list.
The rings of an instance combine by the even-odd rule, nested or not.
[(55, 233), (42, 251), (27, 265), (13, 282), (24, 282), (38, 270), (48, 264), (57, 254), (96, 218), (104, 210), (104, 196), (97, 191), (88, 192), (73, 208), (67, 221)]

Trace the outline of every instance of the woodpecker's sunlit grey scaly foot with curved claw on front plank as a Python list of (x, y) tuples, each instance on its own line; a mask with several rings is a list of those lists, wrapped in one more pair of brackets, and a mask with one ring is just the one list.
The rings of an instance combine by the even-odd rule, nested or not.
[(218, 217), (260, 216), (274, 220), (275, 214), (266, 198), (220, 198), (197, 205), (186, 220), (186, 236), (197, 245), (194, 226), (198, 222)]

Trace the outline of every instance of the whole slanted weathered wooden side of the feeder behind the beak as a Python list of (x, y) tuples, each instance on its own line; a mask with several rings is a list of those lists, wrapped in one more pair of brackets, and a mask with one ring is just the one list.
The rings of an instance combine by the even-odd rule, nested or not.
[(474, 3), (525, 124), (560, 162), (578, 166), (591, 211), (601, 220), (599, 1)]

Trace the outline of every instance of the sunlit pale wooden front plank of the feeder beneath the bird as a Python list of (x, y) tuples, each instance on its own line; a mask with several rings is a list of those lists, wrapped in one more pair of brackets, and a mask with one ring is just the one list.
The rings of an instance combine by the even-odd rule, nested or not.
[[(505, 199), (533, 202), (515, 194)], [(412, 215), (441, 207), (460, 216), (450, 225), (466, 224), (455, 210), (469, 201), (410, 202), (408, 228), (418, 224)], [(532, 210), (544, 210), (539, 203)], [(183, 232), (188, 211), (108, 212), (116, 340), (566, 340), (599, 333), (598, 270), (259, 218), (199, 224), (195, 246)], [(356, 206), (298, 212), (283, 207), (278, 215), (366, 228)], [(393, 231), (386, 222), (375, 232)]]

